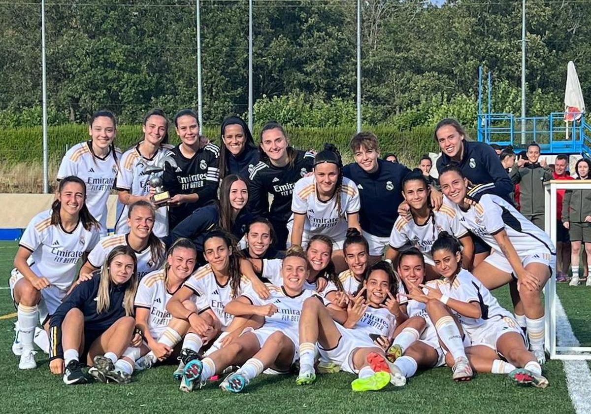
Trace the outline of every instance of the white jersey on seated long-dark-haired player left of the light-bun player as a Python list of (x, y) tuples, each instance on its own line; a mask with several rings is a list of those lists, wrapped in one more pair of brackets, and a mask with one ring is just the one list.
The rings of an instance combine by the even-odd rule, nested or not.
[[(251, 282), (242, 276), (240, 281), (239, 292), (236, 292), (236, 297), (246, 290)], [(183, 284), (183, 286), (189, 287), (197, 295), (197, 308), (199, 313), (204, 312), (207, 309), (213, 310), (217, 318), (222, 322), (222, 330), (225, 331), (232, 322), (233, 316), (226, 313), (224, 310), (225, 306), (230, 303), (232, 297), (232, 286), (230, 281), (224, 286), (217, 283), (215, 274), (213, 274), (211, 266), (206, 264), (200, 267), (193, 273), (189, 279)]]

